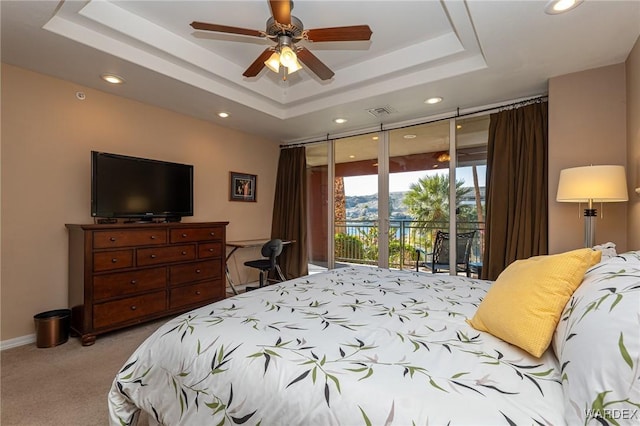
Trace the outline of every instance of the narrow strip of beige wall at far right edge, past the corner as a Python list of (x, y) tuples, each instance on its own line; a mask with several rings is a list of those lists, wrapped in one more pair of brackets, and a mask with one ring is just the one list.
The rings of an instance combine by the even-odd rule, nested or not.
[(640, 37), (627, 58), (627, 176), (629, 182), (627, 245), (640, 249)]

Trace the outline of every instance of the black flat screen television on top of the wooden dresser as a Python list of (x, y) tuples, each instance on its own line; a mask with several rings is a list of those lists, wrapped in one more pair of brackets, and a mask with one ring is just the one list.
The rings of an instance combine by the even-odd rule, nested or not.
[(91, 151), (91, 216), (132, 221), (193, 216), (193, 166)]

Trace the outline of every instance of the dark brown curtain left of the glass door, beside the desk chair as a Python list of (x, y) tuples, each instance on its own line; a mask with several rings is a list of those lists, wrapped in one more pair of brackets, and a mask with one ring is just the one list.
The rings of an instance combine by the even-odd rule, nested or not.
[(279, 258), (287, 279), (309, 273), (307, 254), (307, 158), (304, 147), (280, 150), (271, 238), (293, 240)]

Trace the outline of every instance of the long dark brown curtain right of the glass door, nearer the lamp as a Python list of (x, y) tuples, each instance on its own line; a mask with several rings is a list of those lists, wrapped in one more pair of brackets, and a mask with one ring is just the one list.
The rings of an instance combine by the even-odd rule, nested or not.
[(490, 116), (482, 278), (547, 254), (547, 102)]

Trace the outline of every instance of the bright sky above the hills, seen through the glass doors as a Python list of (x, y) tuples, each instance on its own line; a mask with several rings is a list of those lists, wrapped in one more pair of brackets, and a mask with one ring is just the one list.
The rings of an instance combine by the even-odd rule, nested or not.
[[(478, 185), (485, 186), (486, 166), (478, 166)], [(422, 170), (417, 172), (392, 173), (389, 175), (389, 192), (408, 191), (412, 183), (426, 175), (449, 174), (448, 170)], [(464, 180), (464, 186), (473, 186), (471, 167), (456, 169), (456, 178)], [(372, 195), (378, 193), (378, 175), (350, 176), (344, 178), (345, 195)]]

